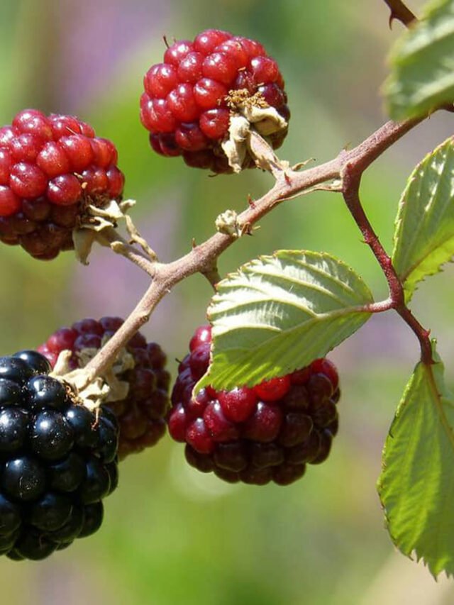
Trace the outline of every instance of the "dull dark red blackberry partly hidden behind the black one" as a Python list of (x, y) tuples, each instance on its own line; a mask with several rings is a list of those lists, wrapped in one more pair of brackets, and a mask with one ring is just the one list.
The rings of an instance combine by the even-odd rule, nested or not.
[[(84, 367), (123, 323), (118, 317), (103, 317), (99, 321), (82, 319), (71, 328), (60, 328), (38, 347), (55, 366), (58, 355), (70, 350), (70, 370)], [(137, 453), (155, 445), (165, 433), (165, 415), (169, 409), (170, 374), (165, 370), (167, 359), (157, 343), (147, 343), (143, 335), (135, 334), (126, 345), (128, 358), (114, 365), (116, 378), (128, 385), (128, 394), (105, 407), (111, 409), (120, 426), (118, 457)], [(0, 384), (1, 389), (1, 384)], [(79, 413), (85, 413), (80, 409)], [(84, 422), (84, 419), (81, 419)], [(74, 418), (74, 422), (78, 422)]]

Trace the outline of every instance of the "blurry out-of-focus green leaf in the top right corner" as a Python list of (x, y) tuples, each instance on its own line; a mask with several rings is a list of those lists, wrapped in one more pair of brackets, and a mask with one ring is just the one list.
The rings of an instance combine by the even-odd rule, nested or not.
[(423, 18), (397, 41), (390, 60), (384, 96), (394, 120), (453, 103), (454, 0), (426, 5)]

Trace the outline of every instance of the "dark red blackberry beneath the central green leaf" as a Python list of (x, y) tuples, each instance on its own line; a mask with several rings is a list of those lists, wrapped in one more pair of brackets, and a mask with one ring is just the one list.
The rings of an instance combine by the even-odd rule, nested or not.
[(307, 464), (326, 460), (338, 431), (336, 367), (318, 359), (284, 377), (232, 391), (192, 389), (209, 367), (210, 326), (197, 328), (179, 364), (167, 417), (169, 432), (186, 443), (201, 472), (228, 482), (293, 483)]

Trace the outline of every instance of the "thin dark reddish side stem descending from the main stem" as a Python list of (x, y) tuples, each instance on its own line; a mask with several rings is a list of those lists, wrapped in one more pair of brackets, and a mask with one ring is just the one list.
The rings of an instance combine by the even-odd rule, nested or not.
[(382, 244), (380, 243), (377, 234), (375, 233), (369, 219), (362, 208), (360, 201), (360, 182), (362, 172), (358, 171), (357, 167), (352, 164), (346, 164), (342, 173), (343, 182), (343, 197), (347, 204), (351, 215), (355, 219), (356, 224), (360, 228), (365, 243), (370, 247), (375, 258), (377, 259), (384, 277), (386, 277), (389, 286), (389, 299), (391, 309), (395, 309), (402, 319), (410, 326), (416, 334), (421, 346), (421, 361), (426, 365), (433, 363), (432, 347), (429, 339), (430, 332), (425, 330), (423, 326), (416, 320), (409, 308), (405, 304), (404, 288), (402, 282), (397, 275), (391, 258), (387, 255)]

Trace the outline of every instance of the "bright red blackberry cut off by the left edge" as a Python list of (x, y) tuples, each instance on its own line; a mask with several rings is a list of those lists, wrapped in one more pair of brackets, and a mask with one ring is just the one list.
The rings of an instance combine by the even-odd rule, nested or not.
[(0, 128), (0, 240), (42, 260), (72, 250), (87, 206), (121, 199), (117, 160), (113, 143), (74, 116), (17, 113)]

